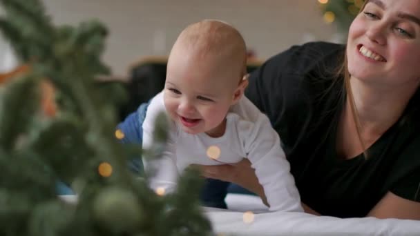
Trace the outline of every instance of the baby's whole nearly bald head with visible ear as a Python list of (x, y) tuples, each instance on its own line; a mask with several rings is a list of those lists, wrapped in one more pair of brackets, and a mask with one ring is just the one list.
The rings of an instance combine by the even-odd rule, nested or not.
[(204, 120), (201, 131), (216, 137), (225, 132), (220, 125), (248, 84), (247, 79), (242, 80), (246, 60), (245, 41), (229, 24), (205, 20), (185, 28), (166, 67), (164, 104), (173, 120), (180, 115), (200, 118)]

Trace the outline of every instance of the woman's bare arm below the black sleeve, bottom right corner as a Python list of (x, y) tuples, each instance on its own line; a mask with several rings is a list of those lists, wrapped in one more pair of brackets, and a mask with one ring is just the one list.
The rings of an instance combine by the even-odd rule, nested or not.
[(420, 220), (420, 202), (404, 199), (388, 192), (367, 216)]

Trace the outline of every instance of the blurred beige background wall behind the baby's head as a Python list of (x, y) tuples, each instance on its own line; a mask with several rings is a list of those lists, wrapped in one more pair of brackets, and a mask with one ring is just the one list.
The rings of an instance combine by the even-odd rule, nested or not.
[[(111, 66), (113, 75), (122, 78), (143, 57), (167, 55), (180, 31), (201, 19), (220, 19), (236, 26), (249, 49), (262, 60), (306, 41), (343, 40), (334, 24), (323, 21), (316, 0), (42, 1), (57, 24), (87, 19), (105, 23), (110, 35), (104, 61)], [(7, 44), (0, 40), (1, 60), (12, 64), (7, 53)]]

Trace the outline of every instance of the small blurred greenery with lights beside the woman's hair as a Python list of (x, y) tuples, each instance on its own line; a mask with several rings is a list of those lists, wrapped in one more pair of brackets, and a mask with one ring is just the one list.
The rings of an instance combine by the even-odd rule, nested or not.
[(326, 23), (336, 23), (338, 30), (344, 34), (359, 13), (364, 0), (318, 0)]

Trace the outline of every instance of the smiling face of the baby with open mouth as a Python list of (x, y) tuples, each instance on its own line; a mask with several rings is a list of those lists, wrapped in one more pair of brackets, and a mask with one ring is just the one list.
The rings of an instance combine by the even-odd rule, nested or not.
[(222, 135), (239, 79), (232, 78), (232, 72), (220, 71), (229, 66), (212, 56), (198, 59), (183, 53), (173, 52), (169, 59), (164, 88), (166, 111), (185, 132)]

